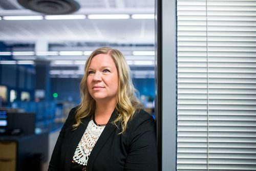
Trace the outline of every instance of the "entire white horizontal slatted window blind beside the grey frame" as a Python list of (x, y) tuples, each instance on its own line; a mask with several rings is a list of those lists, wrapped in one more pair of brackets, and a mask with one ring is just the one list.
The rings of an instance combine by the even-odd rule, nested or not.
[(178, 0), (177, 15), (177, 170), (256, 170), (256, 1)]

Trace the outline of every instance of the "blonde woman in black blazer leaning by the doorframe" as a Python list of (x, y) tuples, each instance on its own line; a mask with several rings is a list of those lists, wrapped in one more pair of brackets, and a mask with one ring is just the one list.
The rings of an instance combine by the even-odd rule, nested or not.
[(120, 51), (92, 52), (80, 94), (48, 170), (158, 170), (155, 122), (141, 109)]

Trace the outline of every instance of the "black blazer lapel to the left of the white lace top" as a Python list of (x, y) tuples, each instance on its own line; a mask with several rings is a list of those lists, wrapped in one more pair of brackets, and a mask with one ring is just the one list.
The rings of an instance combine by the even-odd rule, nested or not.
[(80, 142), (84, 131), (86, 131), (87, 125), (89, 121), (91, 120), (91, 116), (88, 116), (86, 118), (83, 118), (81, 120), (81, 124), (77, 127), (75, 131), (73, 131), (73, 136), (71, 137), (71, 140), (69, 142), (69, 147), (67, 149), (66, 159), (65, 159), (65, 170), (69, 171), (71, 167), (71, 161), (74, 156), (74, 152), (76, 150), (76, 147), (78, 143)]

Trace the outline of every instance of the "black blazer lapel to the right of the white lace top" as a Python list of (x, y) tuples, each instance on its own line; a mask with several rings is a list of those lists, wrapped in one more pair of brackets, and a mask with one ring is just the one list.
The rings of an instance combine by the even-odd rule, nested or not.
[(93, 170), (93, 163), (95, 161), (95, 158), (97, 157), (98, 153), (100, 152), (101, 148), (105, 144), (105, 142), (109, 139), (111, 134), (114, 133), (116, 129), (116, 125), (112, 124), (112, 122), (117, 118), (117, 111), (114, 110), (114, 112), (111, 115), (110, 121), (108, 124), (106, 124), (103, 132), (101, 133), (99, 139), (97, 140), (95, 146), (92, 149), (92, 152), (90, 154), (90, 157), (87, 162), (87, 170)]

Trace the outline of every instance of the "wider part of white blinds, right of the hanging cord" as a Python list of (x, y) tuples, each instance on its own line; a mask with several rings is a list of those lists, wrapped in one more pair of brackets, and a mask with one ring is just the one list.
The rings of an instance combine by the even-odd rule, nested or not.
[(207, 1), (209, 170), (256, 170), (256, 1)]

